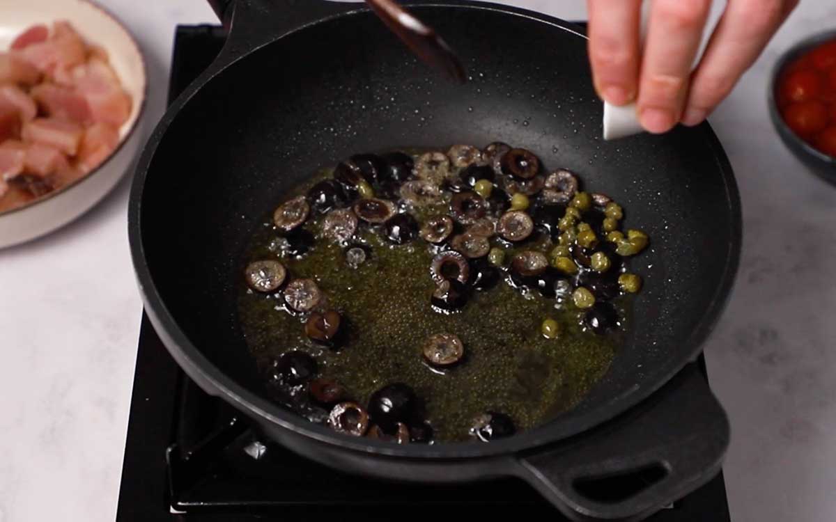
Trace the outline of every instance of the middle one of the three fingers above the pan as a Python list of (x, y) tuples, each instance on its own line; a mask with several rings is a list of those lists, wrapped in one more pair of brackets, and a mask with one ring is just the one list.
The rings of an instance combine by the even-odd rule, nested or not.
[(711, 0), (653, 0), (639, 82), (639, 119), (653, 133), (681, 119)]

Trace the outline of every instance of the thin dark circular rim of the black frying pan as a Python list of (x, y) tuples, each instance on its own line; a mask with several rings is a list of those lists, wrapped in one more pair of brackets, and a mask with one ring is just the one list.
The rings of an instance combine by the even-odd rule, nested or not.
[[(491, 3), (480, 2), (456, 2), (456, 3), (410, 3), (410, 8), (456, 8), (456, 9), (480, 9), (487, 11), (494, 11), (504, 15), (512, 15), (533, 20), (537, 23), (545, 23), (555, 30), (562, 30), (566, 33), (571, 33), (578, 38), (586, 38), (583, 30), (575, 26), (573, 23), (568, 23), (558, 18), (535, 13), (522, 8), (512, 8), (508, 6), (500, 6)], [(637, 404), (650, 397), (659, 388), (668, 383), (671, 378), (681, 371), (688, 362), (694, 360), (701, 352), (701, 347), (709, 336), (718, 317), (721, 316), (727, 297), (732, 289), (733, 281), (737, 274), (737, 267), (739, 265), (740, 249), (742, 242), (742, 212), (740, 206), (740, 195), (737, 190), (737, 182), (732, 173), (732, 165), (726, 157), (725, 151), (722, 149), (719, 139), (711, 130), (708, 124), (703, 124), (698, 131), (704, 134), (703, 139), (706, 139), (706, 144), (714, 152), (715, 160), (718, 170), (720, 170), (721, 177), (724, 181), (726, 189), (726, 203), (729, 208), (730, 221), (732, 226), (731, 241), (729, 242), (728, 250), (726, 251), (726, 266), (724, 267), (721, 281), (716, 287), (716, 291), (711, 296), (711, 302), (704, 312), (701, 320), (691, 332), (691, 335), (683, 340), (683, 344), (690, 349), (690, 357), (677, 357), (675, 362), (666, 365), (660, 365), (655, 368), (655, 372), (650, 376), (645, 377), (645, 382), (649, 383), (642, 388), (635, 387), (626, 390), (624, 393), (614, 396), (608, 403), (599, 408), (594, 408), (589, 411), (579, 413), (577, 418), (558, 418), (552, 422), (545, 423), (538, 428), (533, 428), (527, 432), (520, 433), (514, 437), (495, 441), (490, 444), (477, 443), (440, 443), (432, 446), (409, 444), (399, 446), (390, 443), (381, 443), (379, 441), (369, 440), (366, 438), (358, 439), (347, 435), (335, 433), (328, 428), (319, 426), (314, 423), (309, 423), (303, 418), (299, 418), (294, 413), (289, 412), (278, 406), (275, 403), (268, 401), (267, 398), (252, 393), (234, 379), (222, 372), (221, 368), (210, 362), (187, 337), (186, 333), (178, 326), (175, 317), (171, 314), (163, 302), (160, 292), (155, 286), (155, 281), (150, 273), (150, 268), (145, 261), (145, 248), (142, 243), (142, 223), (140, 219), (142, 196), (145, 185), (145, 179), (149, 173), (151, 161), (155, 156), (155, 151), (161, 143), (166, 129), (171, 125), (172, 121), (179, 114), (182, 107), (188, 103), (199, 89), (205, 84), (212, 81), (212, 78), (222, 71), (226, 70), (233, 63), (238, 60), (247, 58), (250, 54), (256, 52), (258, 49), (278, 42), (279, 40), (290, 36), (305, 28), (319, 25), (322, 23), (330, 23), (337, 19), (349, 18), (357, 15), (367, 15), (370, 11), (366, 8), (359, 8), (344, 13), (339, 13), (329, 18), (321, 19), (314, 23), (308, 23), (300, 28), (296, 28), (278, 38), (270, 39), (263, 45), (253, 48), (248, 53), (238, 57), (229, 63), (225, 63), (221, 68), (210, 67), (201, 77), (197, 79), (191, 86), (186, 89), (186, 92), (181, 94), (176, 101), (171, 104), (171, 108), (166, 112), (161, 119), (154, 132), (151, 134), (148, 144), (145, 146), (140, 161), (136, 168), (135, 178), (131, 187), (130, 203), (129, 203), (129, 240), (131, 256), (134, 261), (137, 279), (139, 281), (140, 293), (145, 302), (146, 311), (153, 323), (155, 330), (160, 333), (161, 338), (165, 341), (166, 348), (171, 353), (172, 357), (176, 359), (178, 364), (186, 371), (186, 373), (194, 378), (199, 383), (207, 383), (211, 386), (212, 394), (222, 395), (224, 398), (233, 403), (237, 408), (247, 413), (252, 418), (259, 422), (278, 425), (281, 428), (287, 429), (296, 435), (313, 439), (317, 443), (325, 443), (329, 445), (338, 446), (341, 449), (351, 450), (361, 454), (373, 454), (382, 458), (393, 459), (415, 459), (415, 460), (433, 460), (433, 459), (483, 459), (487, 457), (497, 457), (502, 455), (517, 455), (522, 453), (530, 453), (533, 450), (541, 448), (550, 443), (558, 443), (572, 436), (579, 435), (588, 431), (590, 428), (601, 425), (619, 415), (627, 412), (630, 408), (634, 408)], [(680, 360), (681, 359), (681, 360)], [(569, 422), (567, 422), (569, 421)]]

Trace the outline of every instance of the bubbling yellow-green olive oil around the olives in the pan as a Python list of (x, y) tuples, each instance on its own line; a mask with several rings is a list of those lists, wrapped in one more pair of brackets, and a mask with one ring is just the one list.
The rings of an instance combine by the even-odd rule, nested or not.
[[(321, 171), (294, 194), (303, 194), (329, 175), (329, 170)], [(447, 209), (444, 202), (415, 216), (423, 223)], [(295, 258), (282, 255), (283, 241), (271, 217), (265, 218), (270, 225), (253, 236), (242, 264), (278, 259), (288, 270), (288, 280), (316, 281), (328, 307), (348, 323), (348, 341), (339, 351), (311, 342), (304, 318), (286, 312), (279, 294), (258, 294), (242, 283), (242, 331), (265, 375), (284, 352), (300, 350), (316, 357), (320, 376), (339, 380), (362, 405), (385, 385), (406, 383), (424, 403), (434, 439), (443, 442), (471, 438), (473, 419), (486, 411), (507, 413), (519, 430), (546, 423), (579, 403), (609, 369), (619, 333), (584, 331), (584, 312), (573, 306), (571, 295), (555, 300), (500, 281), (491, 290), (473, 292), (461, 312), (441, 314), (431, 307), (435, 283), (429, 267), (435, 247), (421, 239), (394, 246), (379, 231), (361, 226), (355, 242), (370, 254), (352, 268), (344, 246), (320, 241), (322, 220), (315, 213), (308, 218), (304, 230), (315, 241), (304, 256)], [(503, 248), (507, 265), (516, 250)], [(550, 240), (544, 236), (517, 250), (548, 248)], [(628, 315), (628, 305), (619, 300), (622, 317)], [(557, 338), (543, 336), (545, 319), (558, 323)], [(444, 370), (430, 367), (421, 350), (428, 337), (439, 333), (455, 334), (465, 347), (463, 360)]]

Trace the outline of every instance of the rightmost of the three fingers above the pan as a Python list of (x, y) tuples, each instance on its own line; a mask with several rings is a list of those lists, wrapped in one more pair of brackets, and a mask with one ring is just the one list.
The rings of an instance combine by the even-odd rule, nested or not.
[(798, 0), (729, 0), (691, 79), (682, 123), (696, 125), (732, 92)]

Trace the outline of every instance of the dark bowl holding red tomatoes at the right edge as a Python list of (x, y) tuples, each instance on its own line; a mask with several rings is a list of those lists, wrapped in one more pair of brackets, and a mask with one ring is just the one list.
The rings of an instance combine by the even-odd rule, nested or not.
[(793, 129), (788, 127), (781, 117), (781, 112), (778, 110), (776, 92), (778, 81), (781, 79), (782, 73), (789, 63), (792, 63), (796, 58), (803, 53), (807, 53), (819, 43), (834, 39), (836, 39), (836, 29), (830, 29), (803, 39), (783, 53), (772, 68), (772, 76), (769, 81), (768, 104), (772, 124), (775, 125), (778, 135), (781, 136), (784, 144), (787, 144), (789, 150), (793, 151), (793, 154), (799, 160), (802, 160), (804, 165), (807, 165), (813, 174), (818, 175), (823, 180), (828, 181), (828, 183), (836, 185), (836, 158), (815, 149), (813, 145), (801, 139), (798, 134), (793, 132)]

